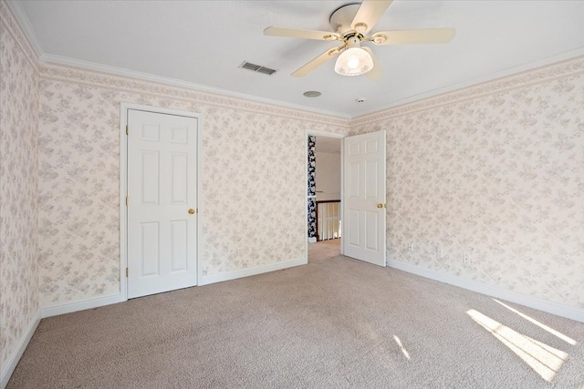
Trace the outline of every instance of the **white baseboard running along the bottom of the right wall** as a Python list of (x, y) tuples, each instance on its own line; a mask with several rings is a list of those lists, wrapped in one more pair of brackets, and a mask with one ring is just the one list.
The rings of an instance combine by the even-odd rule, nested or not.
[(409, 263), (400, 261), (387, 261), (388, 266), (401, 271), (407, 271), (425, 278), (436, 280), (439, 282), (449, 283), (469, 291), (486, 294), (487, 296), (497, 297), (507, 302), (516, 302), (517, 304), (525, 305), (530, 308), (535, 308), (539, 311), (552, 313), (558, 316), (566, 317), (578, 322), (584, 322), (584, 310), (570, 307), (568, 305), (560, 304), (558, 302), (548, 302), (537, 297), (528, 296), (518, 292), (508, 291), (506, 289), (497, 288), (495, 286), (486, 285), (484, 283), (464, 280), (458, 277), (453, 277), (437, 271), (414, 266)]

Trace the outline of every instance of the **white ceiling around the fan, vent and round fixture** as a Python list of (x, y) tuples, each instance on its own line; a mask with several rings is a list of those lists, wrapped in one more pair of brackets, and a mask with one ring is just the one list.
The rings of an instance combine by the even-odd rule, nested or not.
[[(452, 26), (454, 40), (364, 44), (381, 62), (385, 76), (379, 81), (339, 76), (334, 59), (307, 77), (291, 77), (338, 44), (264, 36), (264, 28), (330, 31), (330, 13), (347, 3), (67, 0), (10, 5), (41, 61), (130, 70), (347, 118), (584, 54), (584, 1), (395, 0), (373, 32)], [(243, 61), (277, 73), (239, 68)], [(308, 90), (322, 96), (303, 97)], [(361, 97), (365, 101), (356, 102)]]

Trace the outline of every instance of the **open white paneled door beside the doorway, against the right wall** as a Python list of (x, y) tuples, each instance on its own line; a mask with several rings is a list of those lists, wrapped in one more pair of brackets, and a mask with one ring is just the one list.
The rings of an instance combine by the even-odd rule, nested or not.
[(343, 254), (385, 266), (385, 130), (344, 138)]

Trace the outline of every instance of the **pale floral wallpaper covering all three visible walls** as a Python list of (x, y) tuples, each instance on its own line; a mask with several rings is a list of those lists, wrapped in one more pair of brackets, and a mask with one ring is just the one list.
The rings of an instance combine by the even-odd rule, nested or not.
[(582, 57), (347, 121), (38, 66), (0, 16), (0, 363), (40, 306), (120, 291), (120, 102), (203, 114), (206, 276), (304, 258), (307, 132), (382, 128), (390, 260), (584, 307)]

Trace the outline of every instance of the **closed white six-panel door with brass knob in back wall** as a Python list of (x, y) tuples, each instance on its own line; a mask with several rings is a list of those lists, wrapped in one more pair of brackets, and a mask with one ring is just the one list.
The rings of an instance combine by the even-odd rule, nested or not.
[(128, 298), (196, 285), (197, 119), (128, 110)]

